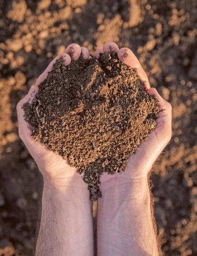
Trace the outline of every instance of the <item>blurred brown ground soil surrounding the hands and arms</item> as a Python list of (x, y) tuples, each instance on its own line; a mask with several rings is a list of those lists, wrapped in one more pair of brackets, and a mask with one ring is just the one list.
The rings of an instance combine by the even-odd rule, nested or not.
[(173, 106), (173, 137), (153, 166), (164, 255), (197, 255), (196, 0), (0, 1), (0, 254), (31, 255), (41, 182), (18, 137), (16, 103), (71, 42), (131, 48)]

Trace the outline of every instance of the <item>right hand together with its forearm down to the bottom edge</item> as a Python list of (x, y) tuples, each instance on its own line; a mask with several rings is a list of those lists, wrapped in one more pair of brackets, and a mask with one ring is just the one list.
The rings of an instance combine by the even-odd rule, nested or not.
[(99, 57), (103, 51), (115, 51), (122, 62), (137, 69), (147, 93), (154, 94), (159, 100), (161, 111), (156, 129), (129, 158), (126, 172), (101, 176), (102, 198), (97, 200), (97, 254), (109, 255), (113, 251), (120, 255), (124, 249), (128, 255), (159, 255), (147, 176), (171, 137), (171, 106), (150, 87), (131, 50), (119, 50), (116, 44), (107, 42), (103, 50), (97, 50), (94, 55)]

